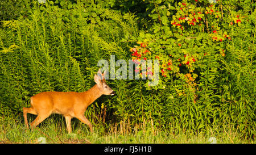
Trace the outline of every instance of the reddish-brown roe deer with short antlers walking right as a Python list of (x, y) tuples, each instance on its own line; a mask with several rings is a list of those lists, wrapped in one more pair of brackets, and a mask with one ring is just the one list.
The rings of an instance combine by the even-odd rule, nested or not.
[(114, 95), (113, 91), (107, 84), (104, 78), (105, 72), (102, 74), (98, 70), (98, 75), (94, 75), (94, 85), (88, 91), (81, 93), (76, 92), (43, 92), (34, 95), (30, 99), (30, 108), (23, 107), (23, 117), (28, 128), (27, 113), (38, 115), (31, 123), (32, 129), (44, 119), (48, 118), (52, 113), (62, 114), (65, 117), (68, 133), (71, 133), (71, 119), (77, 118), (81, 122), (89, 125), (90, 132), (93, 132), (92, 124), (85, 118), (84, 112), (86, 108), (101, 95)]

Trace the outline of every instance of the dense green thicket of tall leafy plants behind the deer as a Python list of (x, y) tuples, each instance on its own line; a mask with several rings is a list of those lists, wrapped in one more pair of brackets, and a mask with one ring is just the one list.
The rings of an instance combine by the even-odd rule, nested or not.
[[(40, 1), (41, 2), (41, 1)], [(159, 60), (159, 85), (108, 80), (117, 92), (86, 111), (123, 132), (255, 136), (253, 1), (20, 1), (0, 28), (0, 114), (17, 117), (42, 91), (86, 91), (101, 59)], [(109, 61), (110, 62), (110, 61)], [(152, 73), (154, 74), (154, 73)], [(1, 119), (0, 117), (0, 119)]]

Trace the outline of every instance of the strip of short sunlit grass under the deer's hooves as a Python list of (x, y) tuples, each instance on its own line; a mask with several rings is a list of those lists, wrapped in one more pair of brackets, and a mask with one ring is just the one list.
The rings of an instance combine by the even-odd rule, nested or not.
[[(30, 118), (29, 122), (32, 119)], [(114, 127), (109, 127), (112, 129), (105, 132), (102, 127), (94, 127), (94, 132), (90, 133), (85, 124), (75, 119), (72, 119), (72, 122), (73, 131), (68, 134), (65, 121), (61, 117), (57, 120), (56, 116), (54, 118), (50, 116), (33, 131), (26, 129), (22, 118), (0, 119), (0, 124), (2, 124), (0, 127), (0, 144), (42, 143), (44, 141), (42, 139), (46, 140), (45, 143), (255, 143), (255, 140), (245, 140), (239, 133), (229, 129), (218, 133), (209, 131), (207, 133), (174, 134), (174, 131), (154, 131), (153, 133), (151, 128), (124, 133), (115, 130)]]

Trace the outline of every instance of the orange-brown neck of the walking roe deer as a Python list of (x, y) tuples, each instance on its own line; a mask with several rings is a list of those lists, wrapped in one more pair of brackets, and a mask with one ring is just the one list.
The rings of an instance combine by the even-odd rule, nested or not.
[(86, 106), (89, 106), (90, 104), (92, 104), (94, 102), (94, 100), (101, 97), (101, 95), (102, 95), (102, 93), (101, 93), (100, 89), (98, 88), (97, 84), (94, 85), (89, 90), (83, 92), (82, 94), (83, 94), (83, 97), (85, 99), (85, 104), (87, 104)]

